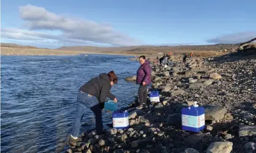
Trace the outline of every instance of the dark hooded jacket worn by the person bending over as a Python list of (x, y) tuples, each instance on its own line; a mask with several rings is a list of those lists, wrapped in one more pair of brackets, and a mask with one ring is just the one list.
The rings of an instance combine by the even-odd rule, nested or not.
[(101, 73), (98, 77), (92, 78), (79, 89), (79, 91), (96, 96), (101, 109), (104, 109), (104, 102), (107, 97), (111, 100), (116, 98), (115, 95), (110, 93), (110, 90), (111, 84), (107, 73)]

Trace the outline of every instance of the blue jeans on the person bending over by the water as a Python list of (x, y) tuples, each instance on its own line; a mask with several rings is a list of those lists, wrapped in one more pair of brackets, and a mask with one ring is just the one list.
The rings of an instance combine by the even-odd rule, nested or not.
[(94, 115), (96, 116), (97, 134), (103, 133), (102, 110), (100, 109), (99, 101), (95, 96), (91, 96), (88, 93), (83, 93), (82, 91), (78, 91), (77, 116), (75, 117), (75, 123), (73, 124), (73, 130), (71, 133), (73, 137), (78, 137), (79, 135), (81, 120), (87, 108), (91, 109)]

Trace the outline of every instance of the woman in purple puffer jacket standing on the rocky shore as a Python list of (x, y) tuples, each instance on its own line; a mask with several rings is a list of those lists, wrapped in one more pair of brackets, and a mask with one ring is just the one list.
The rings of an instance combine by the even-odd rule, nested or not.
[(138, 88), (138, 96), (140, 98), (140, 105), (137, 109), (142, 109), (143, 104), (146, 104), (148, 98), (147, 85), (151, 84), (151, 66), (149, 61), (146, 60), (145, 55), (141, 55), (139, 58), (140, 68), (137, 70), (136, 83), (140, 85)]

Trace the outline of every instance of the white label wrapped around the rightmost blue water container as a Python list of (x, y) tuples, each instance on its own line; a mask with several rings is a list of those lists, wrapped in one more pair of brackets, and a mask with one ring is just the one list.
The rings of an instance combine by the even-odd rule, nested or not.
[(205, 125), (205, 114), (200, 116), (181, 115), (182, 125), (188, 127), (201, 127)]

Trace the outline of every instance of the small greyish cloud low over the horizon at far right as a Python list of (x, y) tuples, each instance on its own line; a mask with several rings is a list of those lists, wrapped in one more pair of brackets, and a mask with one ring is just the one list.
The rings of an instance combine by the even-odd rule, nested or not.
[(256, 37), (256, 32), (238, 32), (207, 40), (208, 43), (243, 43)]

